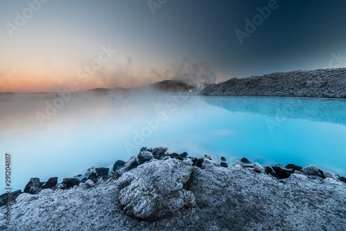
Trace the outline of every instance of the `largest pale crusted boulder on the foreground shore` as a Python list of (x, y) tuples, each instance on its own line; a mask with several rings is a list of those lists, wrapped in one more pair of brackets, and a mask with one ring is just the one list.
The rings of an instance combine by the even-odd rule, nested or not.
[(184, 185), (190, 179), (192, 162), (167, 158), (142, 164), (118, 180), (118, 202), (126, 214), (153, 221), (194, 207), (196, 200)]

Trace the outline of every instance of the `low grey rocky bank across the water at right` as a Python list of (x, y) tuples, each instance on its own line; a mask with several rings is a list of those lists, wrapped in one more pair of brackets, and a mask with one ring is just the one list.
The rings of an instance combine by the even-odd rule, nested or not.
[(284, 96), (346, 98), (346, 68), (290, 71), (232, 78), (208, 85), (200, 94), (205, 96)]

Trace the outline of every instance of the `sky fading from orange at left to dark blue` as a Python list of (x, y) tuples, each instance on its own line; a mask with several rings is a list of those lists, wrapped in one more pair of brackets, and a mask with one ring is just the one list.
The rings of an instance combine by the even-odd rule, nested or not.
[(341, 0), (0, 0), (0, 92), (346, 67), (345, 8)]

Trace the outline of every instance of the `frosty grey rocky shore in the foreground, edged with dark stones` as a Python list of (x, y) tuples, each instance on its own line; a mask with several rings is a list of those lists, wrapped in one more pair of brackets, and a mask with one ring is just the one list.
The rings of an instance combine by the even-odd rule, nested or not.
[(346, 230), (345, 182), (313, 165), (228, 165), (142, 148), (113, 171), (93, 167), (60, 184), (31, 178), (0, 230)]

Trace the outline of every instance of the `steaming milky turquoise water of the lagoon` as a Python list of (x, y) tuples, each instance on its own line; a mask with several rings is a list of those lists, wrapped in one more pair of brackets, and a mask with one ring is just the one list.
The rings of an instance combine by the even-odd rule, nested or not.
[[(53, 96), (52, 96), (53, 97)], [(73, 96), (50, 117), (46, 95), (0, 96), (0, 166), (12, 154), (12, 188), (111, 167), (142, 146), (167, 146), (228, 163), (315, 164), (346, 175), (346, 100), (255, 97)], [(4, 180), (0, 189), (4, 190)]]

